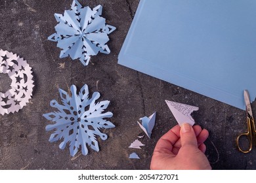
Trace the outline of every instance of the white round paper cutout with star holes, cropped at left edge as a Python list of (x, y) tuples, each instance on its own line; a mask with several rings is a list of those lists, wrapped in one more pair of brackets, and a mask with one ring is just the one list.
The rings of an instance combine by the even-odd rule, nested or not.
[(0, 92), (2, 115), (18, 112), (32, 98), (33, 76), (27, 61), (12, 52), (0, 50), (0, 73), (11, 78), (11, 89)]

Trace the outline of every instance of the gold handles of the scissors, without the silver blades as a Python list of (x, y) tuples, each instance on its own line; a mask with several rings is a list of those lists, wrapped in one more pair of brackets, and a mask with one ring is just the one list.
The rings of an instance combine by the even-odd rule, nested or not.
[[(253, 129), (252, 129), (252, 126), (253, 126)], [(238, 149), (241, 151), (241, 152), (244, 152), (244, 153), (248, 153), (251, 151), (251, 149), (253, 148), (253, 135), (255, 135), (255, 127), (254, 127), (254, 120), (253, 118), (249, 118), (247, 116), (247, 127), (248, 127), (248, 131), (246, 133), (242, 133), (240, 135), (238, 135), (238, 137), (236, 138), (236, 144), (238, 145)], [(249, 140), (249, 149), (248, 150), (243, 150), (240, 146), (240, 137), (243, 137), (245, 136), (248, 140)]]

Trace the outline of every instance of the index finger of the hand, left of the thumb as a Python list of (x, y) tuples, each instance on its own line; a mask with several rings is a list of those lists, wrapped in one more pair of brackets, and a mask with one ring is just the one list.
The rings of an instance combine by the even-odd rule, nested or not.
[(175, 144), (181, 137), (180, 129), (181, 127), (179, 125), (175, 125), (175, 127), (173, 127), (167, 133), (165, 133), (165, 135), (163, 135), (156, 143), (154, 154), (155, 153), (172, 154), (173, 144)]

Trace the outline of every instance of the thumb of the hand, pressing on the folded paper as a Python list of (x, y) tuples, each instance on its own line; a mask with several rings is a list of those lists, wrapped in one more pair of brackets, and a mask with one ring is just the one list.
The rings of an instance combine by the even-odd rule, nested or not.
[(184, 123), (181, 125), (181, 146), (195, 146), (198, 147), (198, 141), (196, 140), (196, 134), (193, 127), (190, 124)]

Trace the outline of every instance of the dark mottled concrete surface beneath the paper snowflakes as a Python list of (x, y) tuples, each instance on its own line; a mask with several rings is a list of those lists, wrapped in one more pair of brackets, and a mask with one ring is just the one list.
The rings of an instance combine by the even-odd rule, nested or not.
[[(139, 0), (79, 2), (91, 8), (102, 5), (102, 16), (117, 27), (109, 36), (111, 53), (93, 56), (87, 67), (79, 60), (60, 59), (56, 42), (47, 41), (55, 32), (54, 13), (70, 9), (72, 0), (0, 1), (0, 48), (26, 59), (35, 80), (30, 103), (19, 112), (0, 116), (0, 169), (149, 169), (156, 142), (177, 124), (165, 99), (200, 107), (193, 116), (196, 124), (209, 130), (205, 154), (213, 169), (256, 169), (256, 148), (249, 154), (236, 148), (237, 135), (246, 131), (244, 110), (117, 64)], [(0, 84), (10, 83), (0, 79)], [(49, 105), (52, 99), (60, 102), (58, 88), (68, 91), (72, 84), (77, 88), (88, 84), (91, 93), (100, 92), (99, 101), (110, 100), (108, 111), (114, 113), (110, 121), (116, 125), (104, 130), (109, 136), (106, 141), (98, 139), (100, 152), (90, 149), (89, 155), (78, 152), (74, 158), (67, 147), (58, 148), (60, 141), (48, 141), (51, 132), (45, 126), (50, 122), (42, 116), (54, 110)], [(256, 114), (255, 103), (252, 107)], [(154, 111), (152, 139), (142, 139), (146, 144), (142, 150), (127, 148), (142, 134), (137, 120)], [(131, 152), (141, 159), (129, 159)]]

